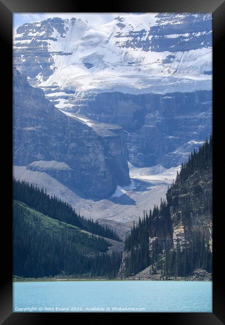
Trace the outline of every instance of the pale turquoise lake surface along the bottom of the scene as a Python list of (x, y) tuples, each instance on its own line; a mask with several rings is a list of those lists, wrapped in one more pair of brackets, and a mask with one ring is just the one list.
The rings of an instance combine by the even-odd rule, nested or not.
[(13, 311), (212, 312), (212, 282), (13, 282)]

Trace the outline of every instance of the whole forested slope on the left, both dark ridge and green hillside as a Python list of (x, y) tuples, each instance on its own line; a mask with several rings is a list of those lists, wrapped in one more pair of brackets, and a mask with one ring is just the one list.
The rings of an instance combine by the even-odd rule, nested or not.
[(117, 275), (121, 252), (109, 252), (111, 239), (102, 236), (116, 237), (109, 228), (83, 219), (68, 204), (28, 183), (13, 181), (13, 194), (13, 275)]

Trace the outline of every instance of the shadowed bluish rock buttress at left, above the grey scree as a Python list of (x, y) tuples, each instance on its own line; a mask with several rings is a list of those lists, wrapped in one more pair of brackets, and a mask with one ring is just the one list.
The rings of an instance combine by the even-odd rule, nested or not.
[(122, 136), (120, 127), (98, 123), (94, 128), (66, 116), (14, 69), (15, 165), (54, 175), (81, 195), (107, 197), (129, 182)]

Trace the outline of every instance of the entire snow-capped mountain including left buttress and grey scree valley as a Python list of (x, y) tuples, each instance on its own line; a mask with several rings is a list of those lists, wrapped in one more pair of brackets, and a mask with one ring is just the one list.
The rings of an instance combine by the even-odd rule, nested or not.
[(13, 93), (15, 177), (104, 222), (159, 203), (211, 131), (211, 33), (206, 13), (18, 27), (13, 64), (25, 86)]

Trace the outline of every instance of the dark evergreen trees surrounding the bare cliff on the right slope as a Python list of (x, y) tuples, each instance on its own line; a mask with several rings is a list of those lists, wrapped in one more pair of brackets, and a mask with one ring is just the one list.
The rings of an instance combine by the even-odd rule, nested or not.
[[(199, 150), (193, 150), (188, 157), (188, 160), (181, 164), (180, 172), (177, 172), (175, 181), (168, 186), (168, 193), (174, 189), (180, 188), (180, 184), (193, 175), (199, 172), (199, 177), (205, 173), (210, 173), (212, 168), (212, 135), (209, 141), (206, 139)], [(126, 259), (126, 274), (135, 274), (149, 265), (151, 272), (155, 272), (156, 268), (162, 267), (165, 277), (168, 275), (184, 276), (191, 273), (194, 268), (202, 267), (206, 270), (211, 270), (211, 252), (206, 240), (200, 232), (193, 232), (189, 242), (182, 244), (177, 238), (176, 246), (172, 249), (165, 249), (155, 240), (149, 250), (149, 238), (156, 236), (155, 227), (158, 227), (160, 222), (161, 228), (170, 229), (171, 216), (170, 204), (176, 212), (177, 222), (180, 218), (190, 219), (193, 208), (199, 210), (199, 213), (211, 215), (212, 211), (212, 195), (211, 183), (208, 183), (207, 191), (202, 193), (199, 184), (193, 184), (193, 191), (196, 197), (194, 202), (190, 201), (188, 193), (182, 194), (182, 200), (175, 195), (172, 197), (172, 202), (161, 199), (159, 207), (154, 205), (152, 211), (143, 211), (143, 218), (138, 218), (138, 222), (133, 222), (129, 235), (125, 238), (125, 250), (130, 252), (130, 256)], [(162, 266), (162, 257), (164, 264)], [(130, 262), (131, 261), (131, 262)]]

